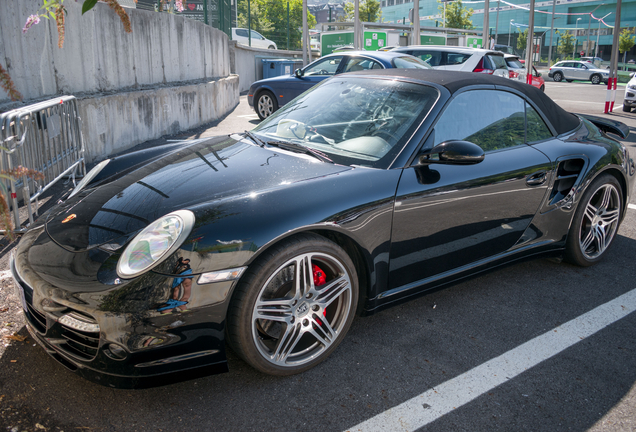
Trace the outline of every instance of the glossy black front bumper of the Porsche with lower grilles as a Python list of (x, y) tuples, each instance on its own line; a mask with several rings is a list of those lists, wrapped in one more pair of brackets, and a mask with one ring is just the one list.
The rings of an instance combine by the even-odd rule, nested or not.
[[(65, 293), (29, 268), (24, 261), (27, 255), (18, 248), (10, 260), (27, 330), (68, 370), (115, 388), (155, 387), (228, 371), (225, 302), (163, 314), (157, 312), (156, 304), (152, 308), (146, 304), (145, 311), (106, 311), (104, 299), (112, 301), (108, 295), (113, 287), (89, 295)], [(134, 291), (131, 288), (128, 285), (128, 292)], [(98, 298), (101, 303), (91, 304), (91, 299)], [(69, 325), (65, 316), (79, 317), (93, 328)], [(113, 345), (121, 349), (119, 358), (111, 350)]]

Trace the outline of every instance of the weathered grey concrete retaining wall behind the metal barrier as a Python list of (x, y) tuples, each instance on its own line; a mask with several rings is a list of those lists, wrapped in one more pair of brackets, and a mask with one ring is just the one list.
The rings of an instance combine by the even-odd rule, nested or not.
[(66, 1), (64, 47), (53, 20), (26, 34), (40, 0), (0, 0), (0, 64), (22, 93), (0, 90), (0, 112), (69, 94), (78, 98), (87, 161), (209, 123), (239, 102), (227, 35), (168, 13), (126, 9), (132, 33), (104, 3), (81, 15)]

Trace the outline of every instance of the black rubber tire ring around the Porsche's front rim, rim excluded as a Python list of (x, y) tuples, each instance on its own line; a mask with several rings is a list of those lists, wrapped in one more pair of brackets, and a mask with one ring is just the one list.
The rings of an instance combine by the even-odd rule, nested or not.
[[(314, 360), (298, 366), (281, 367), (263, 358), (263, 355), (254, 344), (252, 337), (252, 313), (256, 301), (263, 289), (263, 284), (278, 270), (278, 268), (288, 260), (305, 253), (320, 252), (330, 255), (336, 259), (349, 273), (351, 281), (351, 299), (349, 312), (342, 330), (335, 341)], [(351, 258), (346, 252), (333, 243), (320, 236), (306, 235), (299, 239), (283, 242), (280, 246), (261, 256), (257, 262), (250, 265), (250, 270), (241, 278), (236, 289), (236, 294), (230, 303), (230, 310), (235, 313), (228, 313), (228, 333), (234, 333), (233, 337), (228, 335), (228, 342), (234, 351), (246, 362), (261, 372), (285, 376), (304, 372), (313, 368), (325, 360), (342, 342), (351, 327), (355, 311), (358, 305), (358, 276)]]

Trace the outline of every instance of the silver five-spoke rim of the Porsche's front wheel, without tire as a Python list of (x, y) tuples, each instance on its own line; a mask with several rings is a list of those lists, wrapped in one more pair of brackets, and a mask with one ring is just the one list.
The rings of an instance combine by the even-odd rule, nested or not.
[[(314, 284), (313, 265), (326, 282)], [(302, 366), (336, 341), (351, 308), (351, 278), (335, 257), (312, 252), (291, 258), (262, 285), (252, 311), (252, 338), (268, 362)]]

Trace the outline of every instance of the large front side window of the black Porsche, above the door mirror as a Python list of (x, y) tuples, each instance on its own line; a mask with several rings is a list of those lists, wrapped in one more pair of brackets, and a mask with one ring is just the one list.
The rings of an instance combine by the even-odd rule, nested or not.
[(525, 101), (503, 91), (473, 90), (453, 99), (435, 125), (435, 142), (470, 141), (484, 151), (525, 143)]

